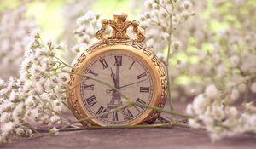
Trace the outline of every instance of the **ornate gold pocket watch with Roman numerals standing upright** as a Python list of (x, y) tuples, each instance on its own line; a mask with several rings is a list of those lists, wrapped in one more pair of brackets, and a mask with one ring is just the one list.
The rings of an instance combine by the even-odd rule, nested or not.
[[(136, 20), (126, 20), (126, 14), (113, 14), (113, 20), (102, 20), (96, 32), (100, 39), (90, 45), (73, 65), (67, 86), (67, 101), (78, 119), (94, 117), (124, 106), (122, 96), (115, 89), (83, 77), (76, 72), (108, 83), (119, 89), (129, 100), (163, 108), (166, 102), (166, 72), (160, 60), (143, 46), (145, 37)], [(113, 31), (105, 37), (107, 26)], [(131, 39), (126, 30), (133, 28), (137, 38)], [(91, 125), (136, 125), (154, 123), (160, 112), (141, 106), (127, 106), (117, 112), (81, 122)]]

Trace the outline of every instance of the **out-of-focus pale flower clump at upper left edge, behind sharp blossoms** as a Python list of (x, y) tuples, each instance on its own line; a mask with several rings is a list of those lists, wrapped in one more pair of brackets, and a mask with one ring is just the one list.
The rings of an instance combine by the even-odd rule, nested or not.
[(24, 51), (29, 43), (35, 22), (26, 18), (26, 7), (3, 9), (0, 25), (0, 76), (7, 79), (18, 77)]

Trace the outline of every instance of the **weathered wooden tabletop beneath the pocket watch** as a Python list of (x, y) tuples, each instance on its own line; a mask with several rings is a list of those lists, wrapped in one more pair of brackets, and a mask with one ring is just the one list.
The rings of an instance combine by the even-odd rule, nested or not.
[[(184, 106), (178, 106), (183, 111)], [(255, 149), (256, 135), (240, 135), (212, 143), (204, 130), (174, 127), (172, 129), (96, 129), (61, 132), (33, 140), (21, 140), (0, 145), (6, 149), (119, 149), (119, 148), (196, 148), (196, 149)]]

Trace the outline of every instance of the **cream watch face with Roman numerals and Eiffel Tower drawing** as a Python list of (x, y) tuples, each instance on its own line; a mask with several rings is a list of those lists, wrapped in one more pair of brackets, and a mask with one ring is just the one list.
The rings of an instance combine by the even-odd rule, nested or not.
[[(137, 54), (115, 49), (97, 55), (84, 69), (84, 73), (119, 89), (129, 100), (150, 104), (153, 100), (154, 83), (148, 65)], [(83, 77), (80, 93), (90, 116), (109, 112), (124, 106), (119, 92), (94, 80)], [(118, 112), (97, 119), (102, 123), (125, 124), (142, 116), (146, 108), (129, 106)]]

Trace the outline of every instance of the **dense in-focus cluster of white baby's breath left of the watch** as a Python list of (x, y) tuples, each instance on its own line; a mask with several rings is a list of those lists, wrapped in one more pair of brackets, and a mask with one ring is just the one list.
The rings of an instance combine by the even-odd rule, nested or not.
[[(68, 81), (64, 68), (54, 60), (62, 45), (53, 41), (43, 43), (38, 31), (32, 32), (20, 65), (20, 77), (1, 81), (0, 87), (0, 141), (32, 136), (35, 125), (46, 123), (49, 127), (61, 124), (62, 102)], [(67, 119), (68, 120), (68, 119)]]

